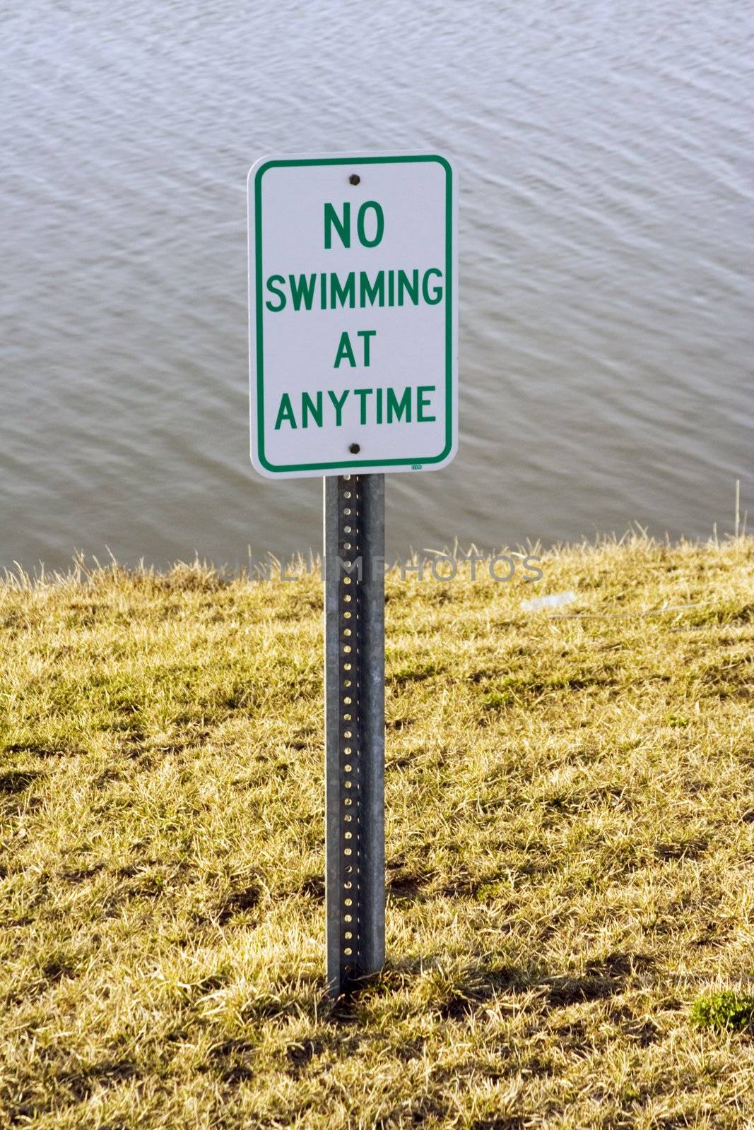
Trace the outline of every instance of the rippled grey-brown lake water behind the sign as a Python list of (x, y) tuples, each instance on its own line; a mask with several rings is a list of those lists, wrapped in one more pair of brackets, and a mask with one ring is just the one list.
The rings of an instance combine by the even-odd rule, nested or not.
[(245, 175), (440, 150), (461, 431), (395, 551), (754, 527), (739, 0), (27, 0), (0, 38), (0, 565), (321, 541), (248, 457)]

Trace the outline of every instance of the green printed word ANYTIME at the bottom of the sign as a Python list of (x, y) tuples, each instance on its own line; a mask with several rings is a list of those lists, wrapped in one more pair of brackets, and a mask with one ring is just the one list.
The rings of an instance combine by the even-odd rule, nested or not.
[(344, 411), (345, 423), (353, 426), (356, 421), (354, 415), (358, 412), (359, 424), (431, 424), (435, 417), (432, 411), (431, 393), (435, 391), (434, 384), (418, 384), (416, 388), (407, 385), (400, 395), (396, 389), (344, 389), (343, 392), (335, 392), (328, 389), (327, 397), (323, 392), (301, 393), (301, 405), (298, 415), (293, 401), (287, 392), (280, 397), (277, 416), (275, 418), (275, 431), (279, 431), (284, 425), (289, 428), (323, 427), (335, 425), (343, 427)]

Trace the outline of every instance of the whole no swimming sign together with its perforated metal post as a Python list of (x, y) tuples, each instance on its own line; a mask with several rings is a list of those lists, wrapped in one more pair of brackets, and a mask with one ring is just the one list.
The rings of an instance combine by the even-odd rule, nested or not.
[(249, 172), (251, 461), (324, 478), (327, 979), (384, 959), (384, 475), (458, 445), (458, 192), (439, 154)]

